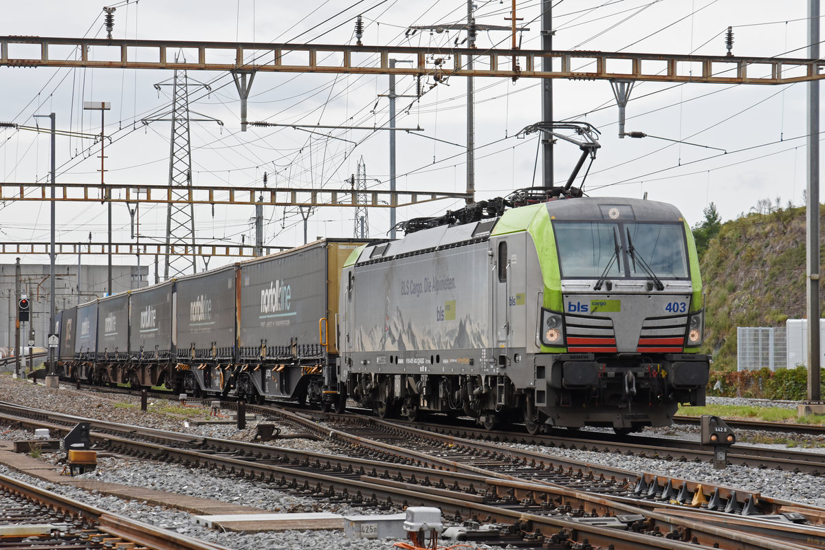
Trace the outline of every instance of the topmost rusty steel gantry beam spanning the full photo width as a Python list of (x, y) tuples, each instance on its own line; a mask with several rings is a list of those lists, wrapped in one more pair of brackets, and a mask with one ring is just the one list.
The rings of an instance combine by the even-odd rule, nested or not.
[[(68, 49), (67, 49), (68, 47)], [(186, 60), (172, 60), (184, 49)], [(59, 59), (51, 55), (59, 52)], [(71, 59), (68, 54), (79, 54)], [(172, 58), (172, 59), (170, 59)], [(390, 58), (414, 58), (389, 66)], [(468, 68), (469, 59), (473, 68)], [(196, 60), (191, 60), (196, 59)], [(513, 67), (513, 60), (516, 68)], [(542, 60), (549, 59), (549, 70)], [(274, 44), (186, 40), (107, 40), (0, 36), (0, 66), (168, 68), (270, 73), (570, 78), (718, 84), (789, 84), (823, 78), (819, 59), (634, 54), (584, 50)], [(700, 69), (700, 70), (697, 70)]]

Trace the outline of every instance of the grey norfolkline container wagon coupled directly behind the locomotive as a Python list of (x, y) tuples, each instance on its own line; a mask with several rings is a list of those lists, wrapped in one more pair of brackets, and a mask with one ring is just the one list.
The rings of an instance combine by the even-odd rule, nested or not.
[(262, 365), (259, 392), (294, 397), (334, 365), (341, 270), (362, 243), (323, 239), (241, 264), (239, 360)]

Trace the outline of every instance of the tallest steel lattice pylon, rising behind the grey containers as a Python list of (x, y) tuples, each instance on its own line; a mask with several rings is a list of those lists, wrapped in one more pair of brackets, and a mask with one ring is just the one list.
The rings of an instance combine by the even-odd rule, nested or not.
[[(172, 122), (172, 137), (169, 140), (169, 187), (173, 202), (167, 206), (166, 248), (168, 253), (163, 266), (163, 279), (169, 280), (172, 277), (197, 272), (196, 256), (174, 253), (175, 251), (190, 251), (195, 247), (195, 206), (188, 202), (188, 188), (192, 185), (189, 123), (217, 122), (219, 125), (224, 125), (224, 123), (189, 109), (190, 87), (205, 87), (206, 90), (211, 90), (211, 88), (207, 84), (187, 78), (185, 70), (175, 69), (171, 79), (154, 85), (158, 91), (162, 86), (172, 87), (172, 110), (158, 117), (144, 119), (143, 123), (148, 125), (150, 122)], [(192, 114), (202, 118), (192, 118)]]

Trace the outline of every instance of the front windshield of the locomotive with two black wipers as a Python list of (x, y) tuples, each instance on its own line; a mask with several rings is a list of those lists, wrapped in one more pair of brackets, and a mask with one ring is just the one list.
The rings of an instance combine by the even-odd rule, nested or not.
[[(689, 276), (685, 228), (681, 223), (555, 221), (561, 275), (573, 279), (648, 278), (646, 263), (662, 279)], [(616, 246), (620, 247), (618, 261)], [(634, 253), (629, 254), (629, 247)], [(611, 264), (612, 261), (612, 264)]]

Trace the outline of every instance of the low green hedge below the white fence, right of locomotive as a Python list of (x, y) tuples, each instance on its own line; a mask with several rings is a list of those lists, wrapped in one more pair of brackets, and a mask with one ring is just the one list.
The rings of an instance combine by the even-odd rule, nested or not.
[[(821, 380), (825, 380), (823, 369)], [(722, 389), (717, 389), (717, 382)], [(710, 371), (707, 386), (710, 396), (751, 397), (757, 399), (776, 399), (801, 401), (808, 397), (808, 369), (771, 369), (736, 371)]]

